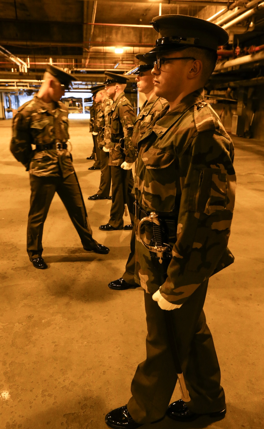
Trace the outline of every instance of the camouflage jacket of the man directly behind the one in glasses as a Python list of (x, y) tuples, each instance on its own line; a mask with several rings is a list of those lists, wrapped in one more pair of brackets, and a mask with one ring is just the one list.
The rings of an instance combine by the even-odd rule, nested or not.
[(132, 136), (132, 142), (137, 147), (138, 141), (144, 136), (147, 131), (147, 127), (153, 121), (156, 115), (162, 111), (162, 109), (168, 104), (165, 98), (156, 97), (153, 95), (150, 101), (145, 101), (141, 106), (138, 117), (135, 121), (134, 131)]

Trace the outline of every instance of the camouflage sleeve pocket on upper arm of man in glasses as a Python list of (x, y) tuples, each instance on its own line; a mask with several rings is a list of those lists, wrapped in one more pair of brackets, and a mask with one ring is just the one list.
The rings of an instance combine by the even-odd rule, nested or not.
[(195, 169), (190, 182), (188, 211), (211, 215), (227, 205), (227, 174), (217, 168)]

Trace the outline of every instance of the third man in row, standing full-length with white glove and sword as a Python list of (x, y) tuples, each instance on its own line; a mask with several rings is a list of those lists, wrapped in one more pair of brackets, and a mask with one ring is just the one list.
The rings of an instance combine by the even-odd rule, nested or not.
[[(102, 231), (132, 230), (133, 202), (135, 201), (131, 194), (134, 184), (132, 165), (136, 160), (132, 134), (136, 117), (133, 107), (124, 93), (129, 78), (110, 72), (106, 72), (105, 75), (108, 76), (105, 82), (107, 95), (114, 101), (108, 114), (111, 134), (109, 165), (112, 179), (112, 205), (108, 223), (101, 225), (99, 229)], [(105, 147), (105, 150), (108, 149)], [(128, 207), (132, 223), (124, 227), (125, 205)]]

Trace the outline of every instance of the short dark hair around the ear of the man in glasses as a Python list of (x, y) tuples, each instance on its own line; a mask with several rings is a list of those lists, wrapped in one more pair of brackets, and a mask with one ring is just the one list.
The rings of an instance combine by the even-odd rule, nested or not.
[(205, 48), (186, 48), (183, 49), (186, 54), (188, 53), (188, 56), (194, 57), (196, 60), (200, 60), (203, 63), (203, 72), (201, 75), (201, 82), (204, 86), (208, 79), (210, 78), (211, 74), (213, 73), (213, 70), (216, 66), (217, 61), (217, 53), (216, 51), (213, 51), (212, 49), (205, 49)]

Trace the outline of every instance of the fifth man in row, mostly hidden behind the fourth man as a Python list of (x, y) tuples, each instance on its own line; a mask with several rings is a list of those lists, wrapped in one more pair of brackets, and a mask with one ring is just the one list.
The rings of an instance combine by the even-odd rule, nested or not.
[(93, 93), (93, 105), (90, 108), (90, 133), (92, 133), (93, 137), (93, 152), (90, 157), (87, 157), (87, 160), (93, 159), (94, 163), (91, 167), (88, 168), (88, 170), (99, 170), (100, 165), (100, 151), (97, 143), (97, 136), (98, 136), (98, 127), (97, 127), (97, 114), (100, 109), (101, 103), (99, 101), (96, 101), (96, 94), (99, 91), (99, 89), (103, 88), (103, 85), (96, 85), (91, 88), (91, 91)]

